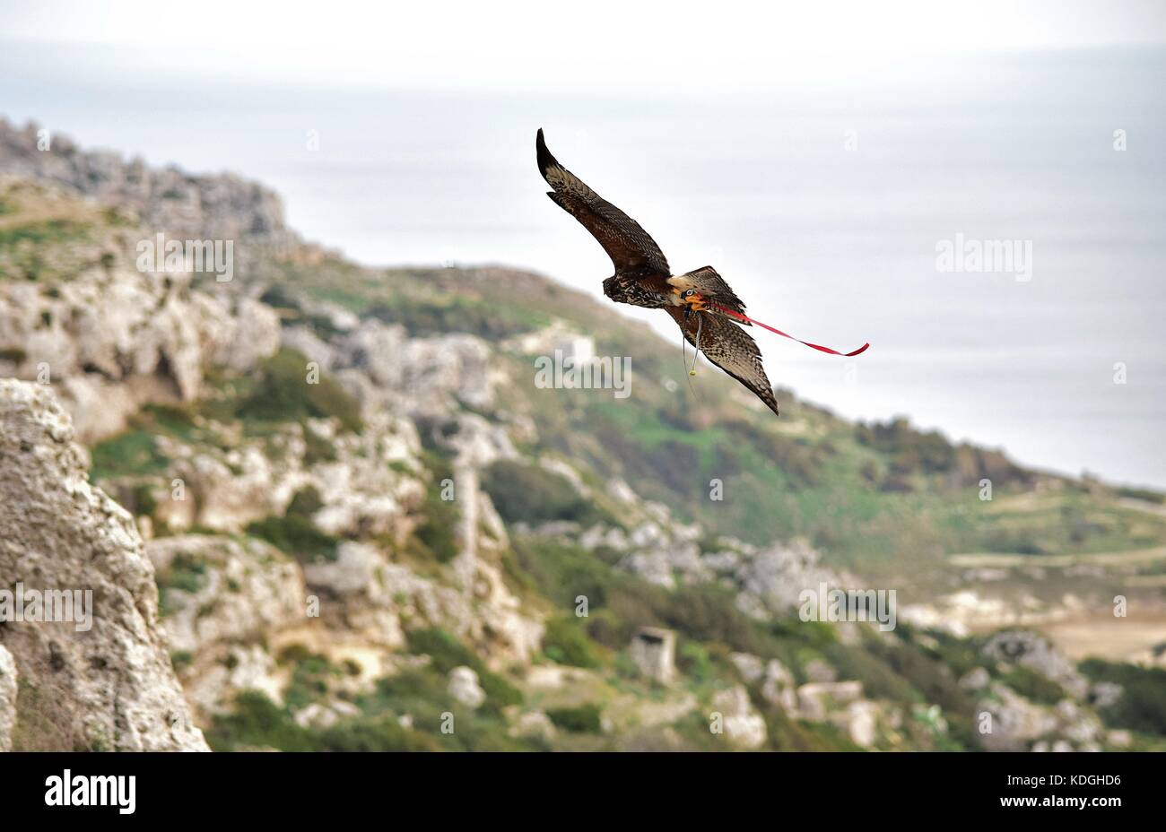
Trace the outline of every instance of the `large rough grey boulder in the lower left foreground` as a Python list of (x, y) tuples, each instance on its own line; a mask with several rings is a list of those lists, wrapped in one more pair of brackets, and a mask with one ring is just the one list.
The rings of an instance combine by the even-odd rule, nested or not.
[[(141, 537), (89, 485), (85, 459), (48, 386), (0, 381), (0, 585), (20, 583), (26, 595), (24, 620), (0, 625), (20, 678), (12, 746), (205, 750), (170, 665)], [(56, 620), (34, 621), (29, 591), (91, 592), (91, 620), (58, 605)], [(10, 677), (0, 661), (0, 736)]]

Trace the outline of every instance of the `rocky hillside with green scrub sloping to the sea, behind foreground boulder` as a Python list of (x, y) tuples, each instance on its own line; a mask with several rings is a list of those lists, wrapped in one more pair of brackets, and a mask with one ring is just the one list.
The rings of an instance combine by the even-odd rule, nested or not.
[[(778, 419), (709, 367), (694, 395), (553, 280), (363, 268), (254, 183), (56, 141), (0, 122), (0, 376), (136, 517), (212, 748), (1166, 743), (1161, 494), (788, 390)], [(231, 239), (232, 280), (140, 270), (160, 232)], [(556, 350), (626, 357), (630, 395), (540, 387)], [(822, 581), (897, 626), (801, 620)]]

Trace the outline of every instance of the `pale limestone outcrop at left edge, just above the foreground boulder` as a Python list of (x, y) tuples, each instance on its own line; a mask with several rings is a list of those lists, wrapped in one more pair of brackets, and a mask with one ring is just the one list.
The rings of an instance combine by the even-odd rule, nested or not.
[(205, 368), (245, 372), (280, 345), (271, 308), (192, 291), (190, 274), (138, 272), (132, 239), (120, 242), (107, 260), (71, 268), (51, 294), (0, 282), (0, 374), (59, 385), (86, 443), (124, 430), (145, 403), (197, 399)]

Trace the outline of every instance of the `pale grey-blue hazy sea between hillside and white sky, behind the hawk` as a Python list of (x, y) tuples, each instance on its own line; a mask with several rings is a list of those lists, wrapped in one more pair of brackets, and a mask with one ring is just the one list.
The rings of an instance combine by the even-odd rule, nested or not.
[[(543, 196), (542, 127), (674, 272), (716, 267), (798, 338), (871, 344), (848, 359), (757, 332), (777, 386), (1166, 488), (1166, 51), (960, 55), (749, 89), (426, 89), (423, 66), (384, 89), (297, 86), (0, 44), (12, 121), (260, 179), (305, 238), (365, 265), (505, 265), (599, 296), (611, 263)], [(676, 338), (659, 312), (620, 311)]]

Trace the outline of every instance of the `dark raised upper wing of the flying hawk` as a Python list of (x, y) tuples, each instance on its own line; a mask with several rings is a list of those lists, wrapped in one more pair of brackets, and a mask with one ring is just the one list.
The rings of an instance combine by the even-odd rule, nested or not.
[(661, 274), (672, 274), (660, 246), (639, 223), (588, 188), (583, 179), (550, 155), (542, 139), (542, 128), (539, 128), (535, 148), (539, 171), (555, 189), (547, 196), (591, 232), (616, 265), (616, 272), (647, 267)]

